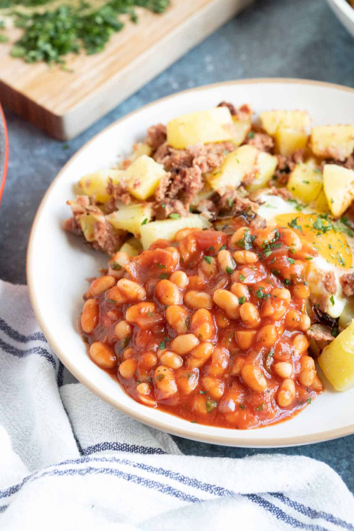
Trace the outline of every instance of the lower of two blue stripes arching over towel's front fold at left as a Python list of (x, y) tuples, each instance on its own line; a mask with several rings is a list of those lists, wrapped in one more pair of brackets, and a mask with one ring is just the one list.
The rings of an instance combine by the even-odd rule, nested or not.
[(97, 475), (107, 474), (110, 476), (119, 477), (120, 479), (125, 479), (126, 481), (131, 481), (137, 485), (147, 487), (148, 489), (154, 489), (163, 494), (174, 496), (174, 498), (177, 498), (180, 501), (185, 501), (189, 503), (198, 503), (202, 501), (201, 499), (196, 498), (196, 496), (192, 496), (191, 494), (187, 494), (178, 489), (175, 489), (174, 487), (172, 487), (171, 485), (167, 485), (166, 483), (160, 483), (158, 481), (153, 481), (153, 479), (146, 479), (142, 476), (137, 476), (135, 474), (129, 474), (127, 472), (123, 472), (122, 470), (118, 470), (116, 468), (94, 468), (94, 467), (68, 468), (66, 470), (54, 469), (54, 470), (48, 470), (47, 472), (39, 474), (38, 476), (35, 476), (35, 477), (27, 476), (18, 485), (13, 485), (12, 487), (9, 487), (9, 489), (7, 489), (7, 491), (4, 491), (3, 494), (0, 493), (0, 498), (5, 498), (6, 496), (14, 494), (15, 492), (18, 492), (25, 483), (34, 481), (35, 479), (41, 479), (42, 477), (46, 477), (46, 476), (63, 477), (63, 476), (75, 476), (75, 475), (85, 476), (87, 474), (97, 474)]

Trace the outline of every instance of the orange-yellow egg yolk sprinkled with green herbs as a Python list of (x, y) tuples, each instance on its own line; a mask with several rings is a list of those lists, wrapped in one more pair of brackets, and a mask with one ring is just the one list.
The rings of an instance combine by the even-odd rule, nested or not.
[(288, 228), (309, 242), (327, 262), (350, 268), (352, 254), (347, 239), (331, 220), (316, 214), (281, 214), (275, 217), (277, 225)]

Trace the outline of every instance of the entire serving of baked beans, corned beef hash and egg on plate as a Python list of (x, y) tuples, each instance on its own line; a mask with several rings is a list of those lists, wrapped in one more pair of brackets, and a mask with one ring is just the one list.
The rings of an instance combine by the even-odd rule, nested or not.
[(66, 230), (109, 254), (93, 362), (189, 422), (278, 422), (354, 386), (354, 126), (228, 102), (149, 127), (84, 175)]

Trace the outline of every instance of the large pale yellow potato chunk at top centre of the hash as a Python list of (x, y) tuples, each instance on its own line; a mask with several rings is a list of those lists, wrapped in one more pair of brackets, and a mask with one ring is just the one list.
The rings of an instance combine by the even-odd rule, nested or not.
[(232, 138), (232, 117), (227, 107), (215, 107), (184, 114), (167, 124), (167, 142), (172, 148), (222, 142)]

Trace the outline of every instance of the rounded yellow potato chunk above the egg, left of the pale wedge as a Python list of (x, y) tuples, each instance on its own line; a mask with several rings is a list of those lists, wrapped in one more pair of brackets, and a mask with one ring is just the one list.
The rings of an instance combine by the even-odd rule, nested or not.
[(305, 162), (297, 164), (292, 170), (287, 188), (300, 201), (308, 204), (317, 199), (322, 185), (320, 170), (317, 170), (312, 162)]

